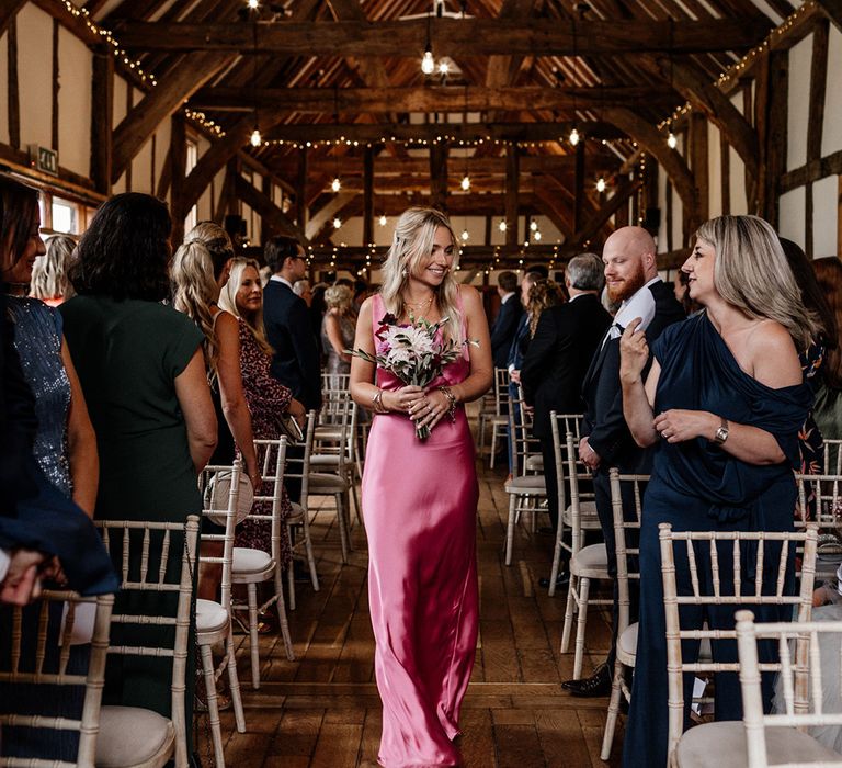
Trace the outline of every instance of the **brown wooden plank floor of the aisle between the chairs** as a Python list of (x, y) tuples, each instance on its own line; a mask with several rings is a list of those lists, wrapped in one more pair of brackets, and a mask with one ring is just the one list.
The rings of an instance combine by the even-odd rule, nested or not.
[[(566, 590), (550, 598), (538, 579), (549, 573), (553, 537), (519, 523), (512, 565), (503, 562), (508, 497), (505, 470), (479, 467), (477, 558), (480, 626), (474, 675), (457, 739), (469, 768), (578, 768), (619, 765), (623, 719), (612, 760), (600, 760), (607, 701), (576, 699), (561, 688), (571, 677), (572, 653), (561, 654)], [(353, 511), (352, 511), (353, 516)], [(538, 526), (546, 526), (543, 518)], [(296, 660), (281, 639), (263, 635), (261, 688), (253, 690), (248, 646), (238, 651), (247, 733), (221, 714), (226, 761), (236, 768), (376, 768), (380, 702), (374, 678), (374, 636), (368, 617), (365, 534), (354, 521), (353, 551), (342, 565), (331, 500), (312, 526), (321, 589), (297, 584), (289, 612)], [(588, 621), (585, 673), (605, 656), (607, 612)], [(238, 637), (238, 641), (242, 641)], [(572, 643), (571, 643), (572, 647)], [(200, 754), (207, 755), (200, 724)]]

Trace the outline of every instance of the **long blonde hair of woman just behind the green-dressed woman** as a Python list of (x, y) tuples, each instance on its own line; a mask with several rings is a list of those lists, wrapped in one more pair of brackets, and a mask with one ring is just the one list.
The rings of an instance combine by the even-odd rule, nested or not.
[(214, 280), (210, 252), (198, 240), (180, 246), (172, 258), (170, 278), (174, 289), (173, 306), (190, 317), (205, 336), (202, 351), (208, 381), (213, 382), (219, 361), (219, 346), (216, 341), (212, 307), (216, 303), (219, 287)]

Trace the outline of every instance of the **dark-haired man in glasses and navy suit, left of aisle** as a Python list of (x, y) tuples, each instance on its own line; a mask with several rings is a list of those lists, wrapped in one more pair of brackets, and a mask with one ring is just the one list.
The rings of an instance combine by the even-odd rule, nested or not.
[(307, 273), (298, 240), (273, 237), (263, 249), (272, 276), (263, 292), (263, 324), (275, 350), (272, 375), (289, 387), (307, 410), (321, 407), (321, 370), (307, 304), (293, 293), (293, 284)]

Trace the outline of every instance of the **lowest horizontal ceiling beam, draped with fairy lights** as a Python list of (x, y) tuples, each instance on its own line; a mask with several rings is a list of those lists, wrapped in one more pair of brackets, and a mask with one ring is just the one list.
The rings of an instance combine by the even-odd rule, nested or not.
[[(261, 112), (261, 126), (263, 124)], [(433, 123), (373, 125), (369, 123), (283, 123), (263, 133), (268, 140), (305, 143), (348, 140), (353, 144), (378, 144), (389, 140), (433, 142), (448, 136), (463, 142), (566, 142), (573, 123)], [(606, 122), (577, 122), (580, 133), (592, 138), (618, 139), (626, 134)]]

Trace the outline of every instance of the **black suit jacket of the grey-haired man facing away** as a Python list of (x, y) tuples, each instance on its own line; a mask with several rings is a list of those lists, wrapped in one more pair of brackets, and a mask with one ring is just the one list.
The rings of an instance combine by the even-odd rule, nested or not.
[(521, 368), (527, 405), (535, 406), (533, 433), (550, 439), (549, 414), (584, 410), (582, 381), (611, 325), (599, 296), (582, 294), (541, 314)]

